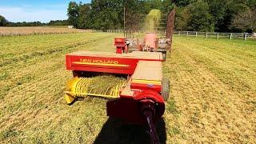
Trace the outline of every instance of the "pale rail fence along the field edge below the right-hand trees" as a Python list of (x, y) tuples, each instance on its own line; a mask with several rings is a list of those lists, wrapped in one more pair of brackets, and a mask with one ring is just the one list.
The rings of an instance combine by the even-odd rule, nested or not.
[(217, 38), (217, 39), (242, 39), (244, 41), (248, 39), (256, 40), (256, 34), (248, 33), (216, 33), (216, 32), (197, 32), (197, 31), (175, 31), (174, 34), (180, 36), (185, 35), (187, 37), (196, 38)]

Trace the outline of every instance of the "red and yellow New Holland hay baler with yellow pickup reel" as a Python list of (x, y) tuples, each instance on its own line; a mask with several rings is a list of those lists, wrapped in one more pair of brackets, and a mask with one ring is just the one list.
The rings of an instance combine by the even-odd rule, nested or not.
[[(151, 138), (158, 143), (154, 122), (162, 117), (164, 101), (169, 98), (170, 90), (169, 80), (162, 78), (162, 61), (161, 53), (140, 51), (128, 54), (91, 51), (66, 54), (66, 69), (72, 70), (74, 75), (66, 86), (66, 102), (72, 104), (76, 99), (87, 96), (109, 98), (106, 102), (108, 116), (134, 124), (147, 124)], [(89, 91), (88, 86), (99, 84), (91, 81), (98, 74), (126, 77), (126, 82), (116, 83), (103, 92)]]

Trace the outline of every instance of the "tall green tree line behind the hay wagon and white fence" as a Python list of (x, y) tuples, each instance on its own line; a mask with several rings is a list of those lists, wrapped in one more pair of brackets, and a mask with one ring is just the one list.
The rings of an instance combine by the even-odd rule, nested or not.
[[(122, 29), (140, 22), (152, 9), (168, 14), (175, 7), (175, 30), (255, 32), (256, 0), (92, 0), (70, 2), (68, 22), (82, 29)], [(135, 19), (135, 21), (134, 21)], [(127, 23), (127, 22), (126, 22)], [(129, 22), (128, 22), (129, 23)], [(134, 24), (135, 24), (134, 23)]]

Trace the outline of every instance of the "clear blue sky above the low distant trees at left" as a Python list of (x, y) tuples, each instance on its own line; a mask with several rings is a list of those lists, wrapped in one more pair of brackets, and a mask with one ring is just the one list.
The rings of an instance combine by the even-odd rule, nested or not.
[[(90, 0), (73, 0), (89, 3)], [(66, 19), (69, 0), (0, 0), (0, 15), (10, 22)]]

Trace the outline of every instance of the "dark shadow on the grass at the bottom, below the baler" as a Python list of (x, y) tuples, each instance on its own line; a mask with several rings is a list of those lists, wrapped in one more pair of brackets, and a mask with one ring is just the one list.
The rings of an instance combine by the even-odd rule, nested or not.
[[(158, 137), (161, 143), (166, 143), (166, 123), (160, 119), (156, 123)], [(95, 139), (94, 144), (114, 144), (114, 143), (151, 143), (150, 135), (146, 132), (146, 127), (124, 124), (122, 121), (114, 118), (109, 118), (98, 137)]]

